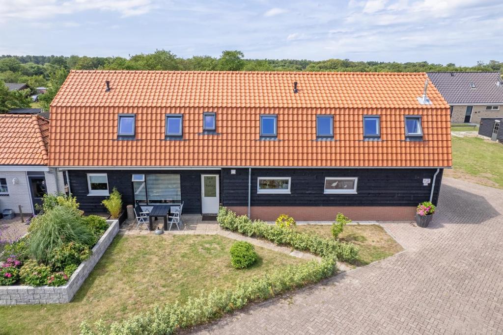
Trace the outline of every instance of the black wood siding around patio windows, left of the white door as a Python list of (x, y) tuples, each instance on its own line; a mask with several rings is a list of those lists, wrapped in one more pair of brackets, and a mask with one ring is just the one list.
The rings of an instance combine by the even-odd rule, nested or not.
[[(180, 174), (182, 201), (184, 201), (184, 212), (186, 213), (201, 213), (201, 174), (220, 175), (218, 170), (69, 170), (71, 193), (80, 203), (80, 209), (86, 212), (106, 211), (105, 206), (101, 204), (106, 196), (88, 195), (88, 173), (106, 173), (109, 190), (112, 191), (112, 188), (117, 187), (117, 190), (122, 194), (124, 205), (134, 203), (131, 175), (148, 173)], [(221, 189), (220, 194), (222, 194)]]

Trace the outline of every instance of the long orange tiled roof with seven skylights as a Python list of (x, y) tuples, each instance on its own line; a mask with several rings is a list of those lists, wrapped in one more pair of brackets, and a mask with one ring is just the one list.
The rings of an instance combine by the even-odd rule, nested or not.
[[(446, 167), (449, 105), (426, 73), (72, 71), (51, 104), (51, 166)], [(105, 81), (110, 81), (110, 92)], [(293, 82), (298, 93), (293, 93)], [(217, 133), (201, 135), (203, 111)], [(117, 140), (118, 114), (136, 114), (136, 140)], [(184, 115), (184, 141), (164, 140), (164, 115)], [(278, 141), (259, 141), (260, 115), (278, 115)], [(336, 141), (315, 141), (316, 115)], [(381, 116), (381, 142), (363, 141), (363, 115)], [(421, 115), (423, 142), (405, 142)]]

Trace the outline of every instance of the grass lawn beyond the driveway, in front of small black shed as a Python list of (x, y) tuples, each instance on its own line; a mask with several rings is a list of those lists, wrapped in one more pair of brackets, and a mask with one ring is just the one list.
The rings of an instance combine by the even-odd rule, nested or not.
[(453, 171), (446, 176), (503, 188), (503, 145), (476, 137), (452, 137)]

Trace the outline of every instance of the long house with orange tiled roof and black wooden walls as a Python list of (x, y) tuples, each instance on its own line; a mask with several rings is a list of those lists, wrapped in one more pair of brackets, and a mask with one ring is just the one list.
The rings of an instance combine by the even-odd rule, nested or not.
[(411, 219), (452, 166), (449, 105), (432, 85), (423, 99), (427, 78), (72, 70), (51, 103), (49, 166), (88, 212), (117, 187), (125, 204), (186, 213)]

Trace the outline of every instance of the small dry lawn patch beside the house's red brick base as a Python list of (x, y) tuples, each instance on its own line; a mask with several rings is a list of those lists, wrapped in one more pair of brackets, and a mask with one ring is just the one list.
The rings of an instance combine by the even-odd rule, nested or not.
[[(300, 233), (333, 239), (330, 228), (331, 225), (297, 225), (295, 229)], [(379, 225), (346, 225), (339, 238), (341, 241), (352, 242), (360, 248), (357, 266), (370, 264), (403, 250)]]

